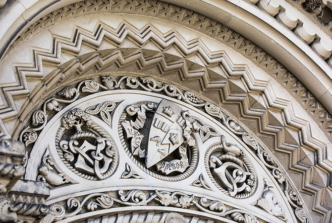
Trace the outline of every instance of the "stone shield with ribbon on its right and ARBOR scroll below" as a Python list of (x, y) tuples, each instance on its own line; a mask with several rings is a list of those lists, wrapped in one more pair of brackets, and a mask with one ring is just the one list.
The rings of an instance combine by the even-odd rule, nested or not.
[[(198, 125), (190, 118), (188, 111), (182, 110), (177, 104), (161, 100), (153, 116), (149, 132), (146, 153), (146, 167), (153, 165), (157, 169), (169, 174), (174, 171), (183, 172), (188, 167), (187, 145), (194, 145), (191, 132), (197, 132)], [(184, 143), (186, 142), (186, 143)], [(162, 161), (179, 148), (181, 160), (171, 162)]]

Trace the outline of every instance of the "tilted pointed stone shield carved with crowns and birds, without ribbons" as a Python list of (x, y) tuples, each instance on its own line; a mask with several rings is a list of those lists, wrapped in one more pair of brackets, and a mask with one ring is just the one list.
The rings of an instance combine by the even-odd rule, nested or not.
[(181, 112), (181, 107), (171, 101), (163, 99), (159, 103), (149, 132), (147, 168), (169, 156), (184, 142)]

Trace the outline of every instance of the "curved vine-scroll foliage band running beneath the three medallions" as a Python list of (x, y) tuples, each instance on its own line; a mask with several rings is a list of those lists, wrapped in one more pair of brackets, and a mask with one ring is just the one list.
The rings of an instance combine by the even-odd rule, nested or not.
[(194, 194), (188, 195), (180, 191), (141, 191), (133, 189), (129, 191), (119, 190), (117, 193), (93, 193), (82, 199), (69, 198), (66, 207), (54, 203), (50, 206), (50, 210), (53, 220), (59, 221), (80, 214), (84, 209), (86, 211), (109, 209), (116, 203), (123, 206), (161, 205), (188, 209), (194, 208), (212, 215), (230, 217), (236, 222), (258, 222), (257, 217), (245, 210), (226, 207), (222, 201), (210, 200), (206, 197), (195, 196)]

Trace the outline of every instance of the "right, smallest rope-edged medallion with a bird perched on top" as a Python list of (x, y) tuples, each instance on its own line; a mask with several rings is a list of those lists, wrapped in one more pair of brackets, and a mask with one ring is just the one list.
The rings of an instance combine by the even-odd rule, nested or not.
[(226, 142), (211, 146), (204, 158), (206, 171), (214, 185), (228, 196), (243, 199), (250, 197), (257, 188), (257, 175), (238, 146)]

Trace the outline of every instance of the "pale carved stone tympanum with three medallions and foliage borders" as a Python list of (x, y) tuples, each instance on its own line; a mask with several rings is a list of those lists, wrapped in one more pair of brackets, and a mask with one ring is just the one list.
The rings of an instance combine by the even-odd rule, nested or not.
[(285, 195), (294, 192), (279, 197), (286, 175), (257, 139), (190, 91), (108, 76), (65, 87), (61, 97), (72, 104), (59, 100), (62, 109), (46, 112), (28, 144), (26, 178), (52, 188), (43, 223), (120, 213), (118, 222), (140, 222), (137, 212), (164, 213), (151, 222), (307, 219), (298, 201), (294, 213), (289, 207)]

